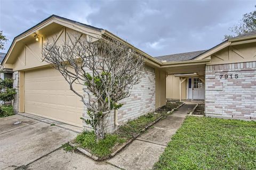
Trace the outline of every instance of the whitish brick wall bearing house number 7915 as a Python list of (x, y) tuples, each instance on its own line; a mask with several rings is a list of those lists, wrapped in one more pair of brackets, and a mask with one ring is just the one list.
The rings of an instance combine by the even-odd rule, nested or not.
[(256, 120), (255, 61), (206, 66), (205, 114)]

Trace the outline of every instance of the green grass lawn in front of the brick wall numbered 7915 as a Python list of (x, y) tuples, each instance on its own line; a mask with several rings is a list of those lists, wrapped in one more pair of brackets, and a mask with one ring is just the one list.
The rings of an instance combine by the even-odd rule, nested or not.
[(154, 169), (256, 169), (256, 122), (188, 116)]

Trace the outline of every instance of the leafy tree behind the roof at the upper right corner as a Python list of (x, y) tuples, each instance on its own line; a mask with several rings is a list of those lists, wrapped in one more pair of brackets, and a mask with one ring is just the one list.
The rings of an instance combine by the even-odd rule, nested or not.
[[(254, 7), (256, 9), (256, 5)], [(223, 41), (256, 30), (256, 10), (244, 14), (243, 19), (236, 26), (230, 27), (229, 30), (235, 35), (225, 35)]]

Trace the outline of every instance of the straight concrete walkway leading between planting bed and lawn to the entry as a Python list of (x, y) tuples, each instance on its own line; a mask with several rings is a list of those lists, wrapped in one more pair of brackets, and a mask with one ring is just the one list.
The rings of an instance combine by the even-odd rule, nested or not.
[(174, 111), (172, 115), (156, 123), (154, 128), (139, 136), (107, 163), (125, 170), (151, 169), (159, 156), (163, 153), (171, 136), (178, 130), (183, 120), (196, 103), (187, 103)]

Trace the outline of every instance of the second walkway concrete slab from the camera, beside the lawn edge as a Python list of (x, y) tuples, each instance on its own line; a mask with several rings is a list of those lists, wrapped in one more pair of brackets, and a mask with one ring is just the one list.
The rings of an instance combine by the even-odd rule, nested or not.
[(137, 139), (167, 146), (167, 143), (171, 140), (171, 137), (175, 132), (176, 130), (154, 127), (148, 129), (147, 133), (142, 134), (137, 137)]

